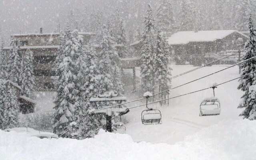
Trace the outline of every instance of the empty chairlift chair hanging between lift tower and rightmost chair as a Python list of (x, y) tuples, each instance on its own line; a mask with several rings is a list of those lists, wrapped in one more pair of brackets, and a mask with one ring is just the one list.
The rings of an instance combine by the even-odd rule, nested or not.
[[(144, 94), (145, 95), (145, 94)], [(152, 96), (152, 94), (150, 93)], [(146, 108), (148, 108), (148, 98), (150, 95), (144, 96), (146, 99)], [(148, 124), (162, 124), (162, 114), (160, 110), (154, 110), (152, 108), (148, 108), (147, 110), (142, 111), (141, 113), (141, 121), (142, 124), (148, 125)]]

